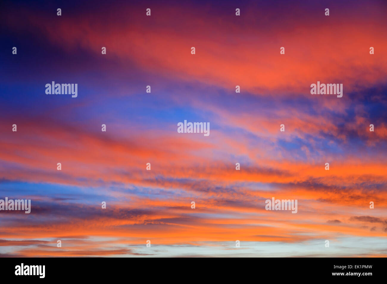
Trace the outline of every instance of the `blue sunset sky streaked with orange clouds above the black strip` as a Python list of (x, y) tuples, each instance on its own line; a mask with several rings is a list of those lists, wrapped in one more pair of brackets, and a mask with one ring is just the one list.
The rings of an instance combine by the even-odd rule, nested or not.
[(0, 257), (387, 257), (386, 11), (4, 1), (0, 199), (31, 213), (0, 211)]

